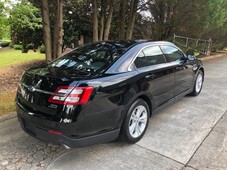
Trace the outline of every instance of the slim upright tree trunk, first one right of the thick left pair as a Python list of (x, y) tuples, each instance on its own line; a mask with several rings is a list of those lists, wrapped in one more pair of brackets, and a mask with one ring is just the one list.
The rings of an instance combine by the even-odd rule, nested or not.
[(97, 0), (92, 0), (93, 10), (93, 42), (98, 41), (98, 5)]

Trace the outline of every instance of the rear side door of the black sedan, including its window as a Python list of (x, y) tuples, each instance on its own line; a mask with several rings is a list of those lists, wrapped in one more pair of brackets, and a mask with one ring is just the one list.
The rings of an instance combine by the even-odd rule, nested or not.
[(174, 97), (174, 69), (167, 63), (159, 46), (143, 48), (137, 55), (134, 65), (141, 79), (148, 82), (155, 108)]

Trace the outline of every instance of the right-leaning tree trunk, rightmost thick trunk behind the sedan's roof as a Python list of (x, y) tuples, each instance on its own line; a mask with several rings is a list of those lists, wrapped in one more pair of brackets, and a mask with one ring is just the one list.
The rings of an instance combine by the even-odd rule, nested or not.
[(127, 32), (126, 32), (126, 39), (132, 39), (132, 33), (133, 33), (134, 25), (135, 25), (138, 3), (139, 3), (139, 0), (131, 1), (129, 22), (128, 22), (128, 28), (127, 28)]

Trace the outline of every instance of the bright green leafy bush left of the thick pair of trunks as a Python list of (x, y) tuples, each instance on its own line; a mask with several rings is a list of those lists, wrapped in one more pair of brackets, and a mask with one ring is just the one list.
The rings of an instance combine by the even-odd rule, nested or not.
[(42, 43), (40, 10), (27, 0), (22, 0), (13, 7), (9, 22), (13, 43), (21, 43), (23, 48), (30, 43), (37, 48)]

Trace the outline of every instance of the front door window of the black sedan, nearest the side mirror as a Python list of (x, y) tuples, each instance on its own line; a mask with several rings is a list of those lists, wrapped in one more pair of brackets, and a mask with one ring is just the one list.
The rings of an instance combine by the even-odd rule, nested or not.
[(184, 54), (175, 47), (161, 46), (163, 53), (167, 56), (168, 61), (179, 61), (185, 58)]

